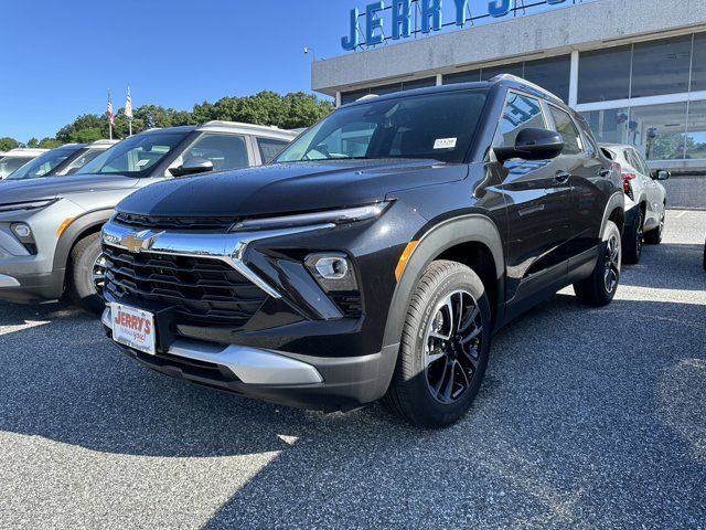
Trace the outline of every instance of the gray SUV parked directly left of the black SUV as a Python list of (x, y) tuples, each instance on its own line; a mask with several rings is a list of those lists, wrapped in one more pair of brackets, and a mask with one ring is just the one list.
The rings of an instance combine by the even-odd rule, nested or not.
[(85, 309), (100, 312), (100, 227), (120, 200), (161, 180), (269, 162), (296, 136), (227, 121), (151, 129), (75, 174), (3, 183), (0, 299), (35, 303), (68, 292)]

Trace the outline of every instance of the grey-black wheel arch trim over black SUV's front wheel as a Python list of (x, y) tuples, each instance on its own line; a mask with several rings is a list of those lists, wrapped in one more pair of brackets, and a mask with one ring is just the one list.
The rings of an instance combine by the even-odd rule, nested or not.
[[(393, 294), (383, 347), (399, 343), (409, 300), (429, 264), (439, 254), (462, 243), (482, 243), (490, 250), (495, 262), (499, 286), (502, 287), (502, 278), (505, 273), (504, 246), (495, 223), (481, 214), (462, 215), (443, 221), (424, 233), (407, 261), (405, 271)], [(502, 300), (504, 300), (502, 288), (499, 288), (498, 294), (499, 306), (502, 307)]]

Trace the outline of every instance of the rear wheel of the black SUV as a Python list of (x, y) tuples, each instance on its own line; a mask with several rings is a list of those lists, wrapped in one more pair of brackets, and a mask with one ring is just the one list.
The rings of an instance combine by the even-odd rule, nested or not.
[(593, 273), (574, 284), (574, 293), (580, 303), (600, 307), (612, 301), (620, 283), (621, 248), (620, 230), (616, 223), (608, 221)]

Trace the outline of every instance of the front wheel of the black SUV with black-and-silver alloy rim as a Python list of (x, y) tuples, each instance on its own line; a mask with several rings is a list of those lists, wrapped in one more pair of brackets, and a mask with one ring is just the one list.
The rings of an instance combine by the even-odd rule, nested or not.
[[(452, 321), (461, 326), (450, 327), (451, 307), (456, 316), (460, 314)], [(442, 340), (446, 335), (449, 339)], [(478, 394), (490, 339), (490, 304), (479, 276), (457, 262), (431, 263), (411, 297), (397, 365), (383, 402), (418, 426), (438, 428), (454, 423)], [(427, 351), (425, 343), (434, 349)]]

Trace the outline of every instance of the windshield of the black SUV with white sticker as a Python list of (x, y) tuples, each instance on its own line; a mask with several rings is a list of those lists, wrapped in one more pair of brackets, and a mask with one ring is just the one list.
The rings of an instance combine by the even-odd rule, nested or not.
[(276, 162), (351, 158), (462, 162), (485, 97), (485, 91), (458, 91), (343, 107), (291, 144)]

